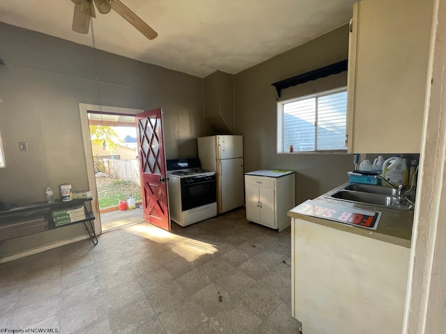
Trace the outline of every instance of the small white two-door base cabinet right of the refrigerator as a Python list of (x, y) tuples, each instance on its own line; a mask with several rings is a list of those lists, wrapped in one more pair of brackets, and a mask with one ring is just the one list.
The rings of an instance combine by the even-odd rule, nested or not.
[(295, 206), (295, 173), (279, 177), (245, 174), (245, 202), (248, 221), (282, 232), (291, 224), (286, 213)]

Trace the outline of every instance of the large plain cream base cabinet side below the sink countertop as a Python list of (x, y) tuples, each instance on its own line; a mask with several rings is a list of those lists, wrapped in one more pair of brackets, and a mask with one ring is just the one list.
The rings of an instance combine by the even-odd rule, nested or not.
[(401, 333), (410, 248), (298, 218), (291, 248), (291, 312), (302, 333)]

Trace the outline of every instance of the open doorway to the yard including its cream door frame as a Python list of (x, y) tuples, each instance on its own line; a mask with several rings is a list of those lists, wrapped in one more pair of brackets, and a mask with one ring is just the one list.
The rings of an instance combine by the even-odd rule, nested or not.
[[(132, 143), (134, 115), (141, 110), (79, 104), (79, 111), (95, 230), (106, 232), (144, 221), (136, 140)], [(130, 195), (133, 209), (128, 209)]]

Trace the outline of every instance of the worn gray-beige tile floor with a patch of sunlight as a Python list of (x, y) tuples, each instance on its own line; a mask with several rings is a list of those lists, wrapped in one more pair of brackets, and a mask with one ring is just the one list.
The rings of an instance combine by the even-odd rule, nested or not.
[(289, 229), (249, 223), (244, 209), (172, 228), (140, 223), (0, 264), (0, 328), (298, 333)]

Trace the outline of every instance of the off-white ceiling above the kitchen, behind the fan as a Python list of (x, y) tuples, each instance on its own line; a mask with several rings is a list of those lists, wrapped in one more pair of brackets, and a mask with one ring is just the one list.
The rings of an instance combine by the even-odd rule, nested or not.
[[(95, 47), (206, 77), (236, 74), (346, 24), (355, 0), (121, 0), (157, 31), (148, 40), (113, 10), (93, 19)], [(70, 0), (1, 0), (0, 22), (82, 45)], [(1, 55), (0, 55), (1, 58)]]

